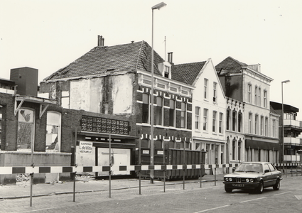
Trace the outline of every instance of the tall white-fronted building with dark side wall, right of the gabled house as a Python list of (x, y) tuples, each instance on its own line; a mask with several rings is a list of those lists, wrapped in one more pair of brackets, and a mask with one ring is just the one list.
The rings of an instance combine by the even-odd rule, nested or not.
[[(231, 109), (227, 111), (227, 120), (232, 125), (234, 122), (243, 122), (244, 130), (244, 140), (242, 139), (241, 143), (235, 143), (237, 147), (234, 147), (234, 150), (242, 150), (242, 155), (237, 154), (237, 157), (230, 157), (230, 159), (278, 163), (280, 147), (277, 125), (279, 115), (274, 114), (269, 107), (269, 86), (272, 79), (261, 72), (259, 64), (247, 65), (231, 57), (220, 62), (215, 68), (226, 97), (244, 105), (242, 121), (238, 121), (234, 116), (230, 119), (229, 115), (233, 115), (233, 111)], [(241, 116), (241, 114), (235, 116), (239, 118), (239, 115)], [(234, 122), (232, 123), (231, 120)], [(236, 124), (233, 126), (237, 126), (237, 129), (239, 127)]]

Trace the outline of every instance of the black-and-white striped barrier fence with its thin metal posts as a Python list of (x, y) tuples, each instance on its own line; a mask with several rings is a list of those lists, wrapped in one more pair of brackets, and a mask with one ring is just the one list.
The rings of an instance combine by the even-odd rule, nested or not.
[[(291, 176), (293, 176), (293, 166), (296, 166), (296, 174), (298, 175), (298, 167), (301, 168), (302, 163), (285, 163), (286, 168), (291, 166)], [(141, 195), (141, 171), (148, 170), (161, 170), (166, 173), (166, 170), (183, 170), (185, 175), (186, 170), (200, 169), (200, 187), (202, 187), (202, 169), (213, 169), (215, 175), (216, 185), (216, 169), (217, 168), (234, 168), (238, 163), (220, 164), (220, 165), (119, 165), (117, 166), (23, 166), (23, 167), (0, 167), (0, 175), (12, 175), (12, 174), (30, 174), (31, 177), (31, 195), (30, 195), (30, 207), (32, 206), (32, 192), (33, 192), (33, 175), (35, 173), (99, 173), (108, 172), (109, 174), (109, 197), (111, 197), (111, 173), (112, 171), (135, 171), (139, 173), (139, 195)], [(282, 163), (274, 164), (276, 167), (281, 168)], [(286, 169), (287, 177), (287, 169)], [(301, 170), (302, 175), (302, 170)], [(75, 202), (75, 175), (73, 175), (73, 202)], [(183, 189), (185, 189), (185, 178), (183, 178)], [(163, 192), (166, 192), (166, 182), (163, 178)]]

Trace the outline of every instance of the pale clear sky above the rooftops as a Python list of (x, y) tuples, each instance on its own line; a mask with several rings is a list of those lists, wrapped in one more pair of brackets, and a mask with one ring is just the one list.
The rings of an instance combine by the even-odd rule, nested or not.
[[(0, 78), (33, 67), (41, 82), (97, 46), (145, 40), (151, 45), (151, 7), (162, 0), (0, 0)], [(300, 109), (302, 121), (301, 0), (163, 0), (154, 10), (154, 50), (173, 62), (231, 56), (274, 79), (270, 99)], [(166, 40), (166, 41), (165, 41)], [(166, 56), (166, 59), (167, 56)], [(298, 96), (296, 95), (298, 94)], [(300, 95), (299, 95), (300, 94)]]

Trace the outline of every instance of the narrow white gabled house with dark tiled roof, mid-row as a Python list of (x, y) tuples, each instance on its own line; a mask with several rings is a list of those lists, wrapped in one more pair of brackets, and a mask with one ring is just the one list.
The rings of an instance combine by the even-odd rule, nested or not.
[(226, 163), (226, 100), (212, 60), (175, 65), (174, 68), (195, 87), (192, 94), (192, 149), (207, 151), (206, 164)]

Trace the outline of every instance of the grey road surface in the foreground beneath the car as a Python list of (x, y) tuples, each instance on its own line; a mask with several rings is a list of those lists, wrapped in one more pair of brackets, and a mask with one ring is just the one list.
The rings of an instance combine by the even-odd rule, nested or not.
[(284, 178), (279, 191), (272, 187), (262, 194), (233, 190), (227, 193), (221, 181), (200, 184), (87, 192), (76, 195), (35, 197), (33, 207), (27, 199), (1, 200), (0, 212), (302, 212), (302, 176)]

